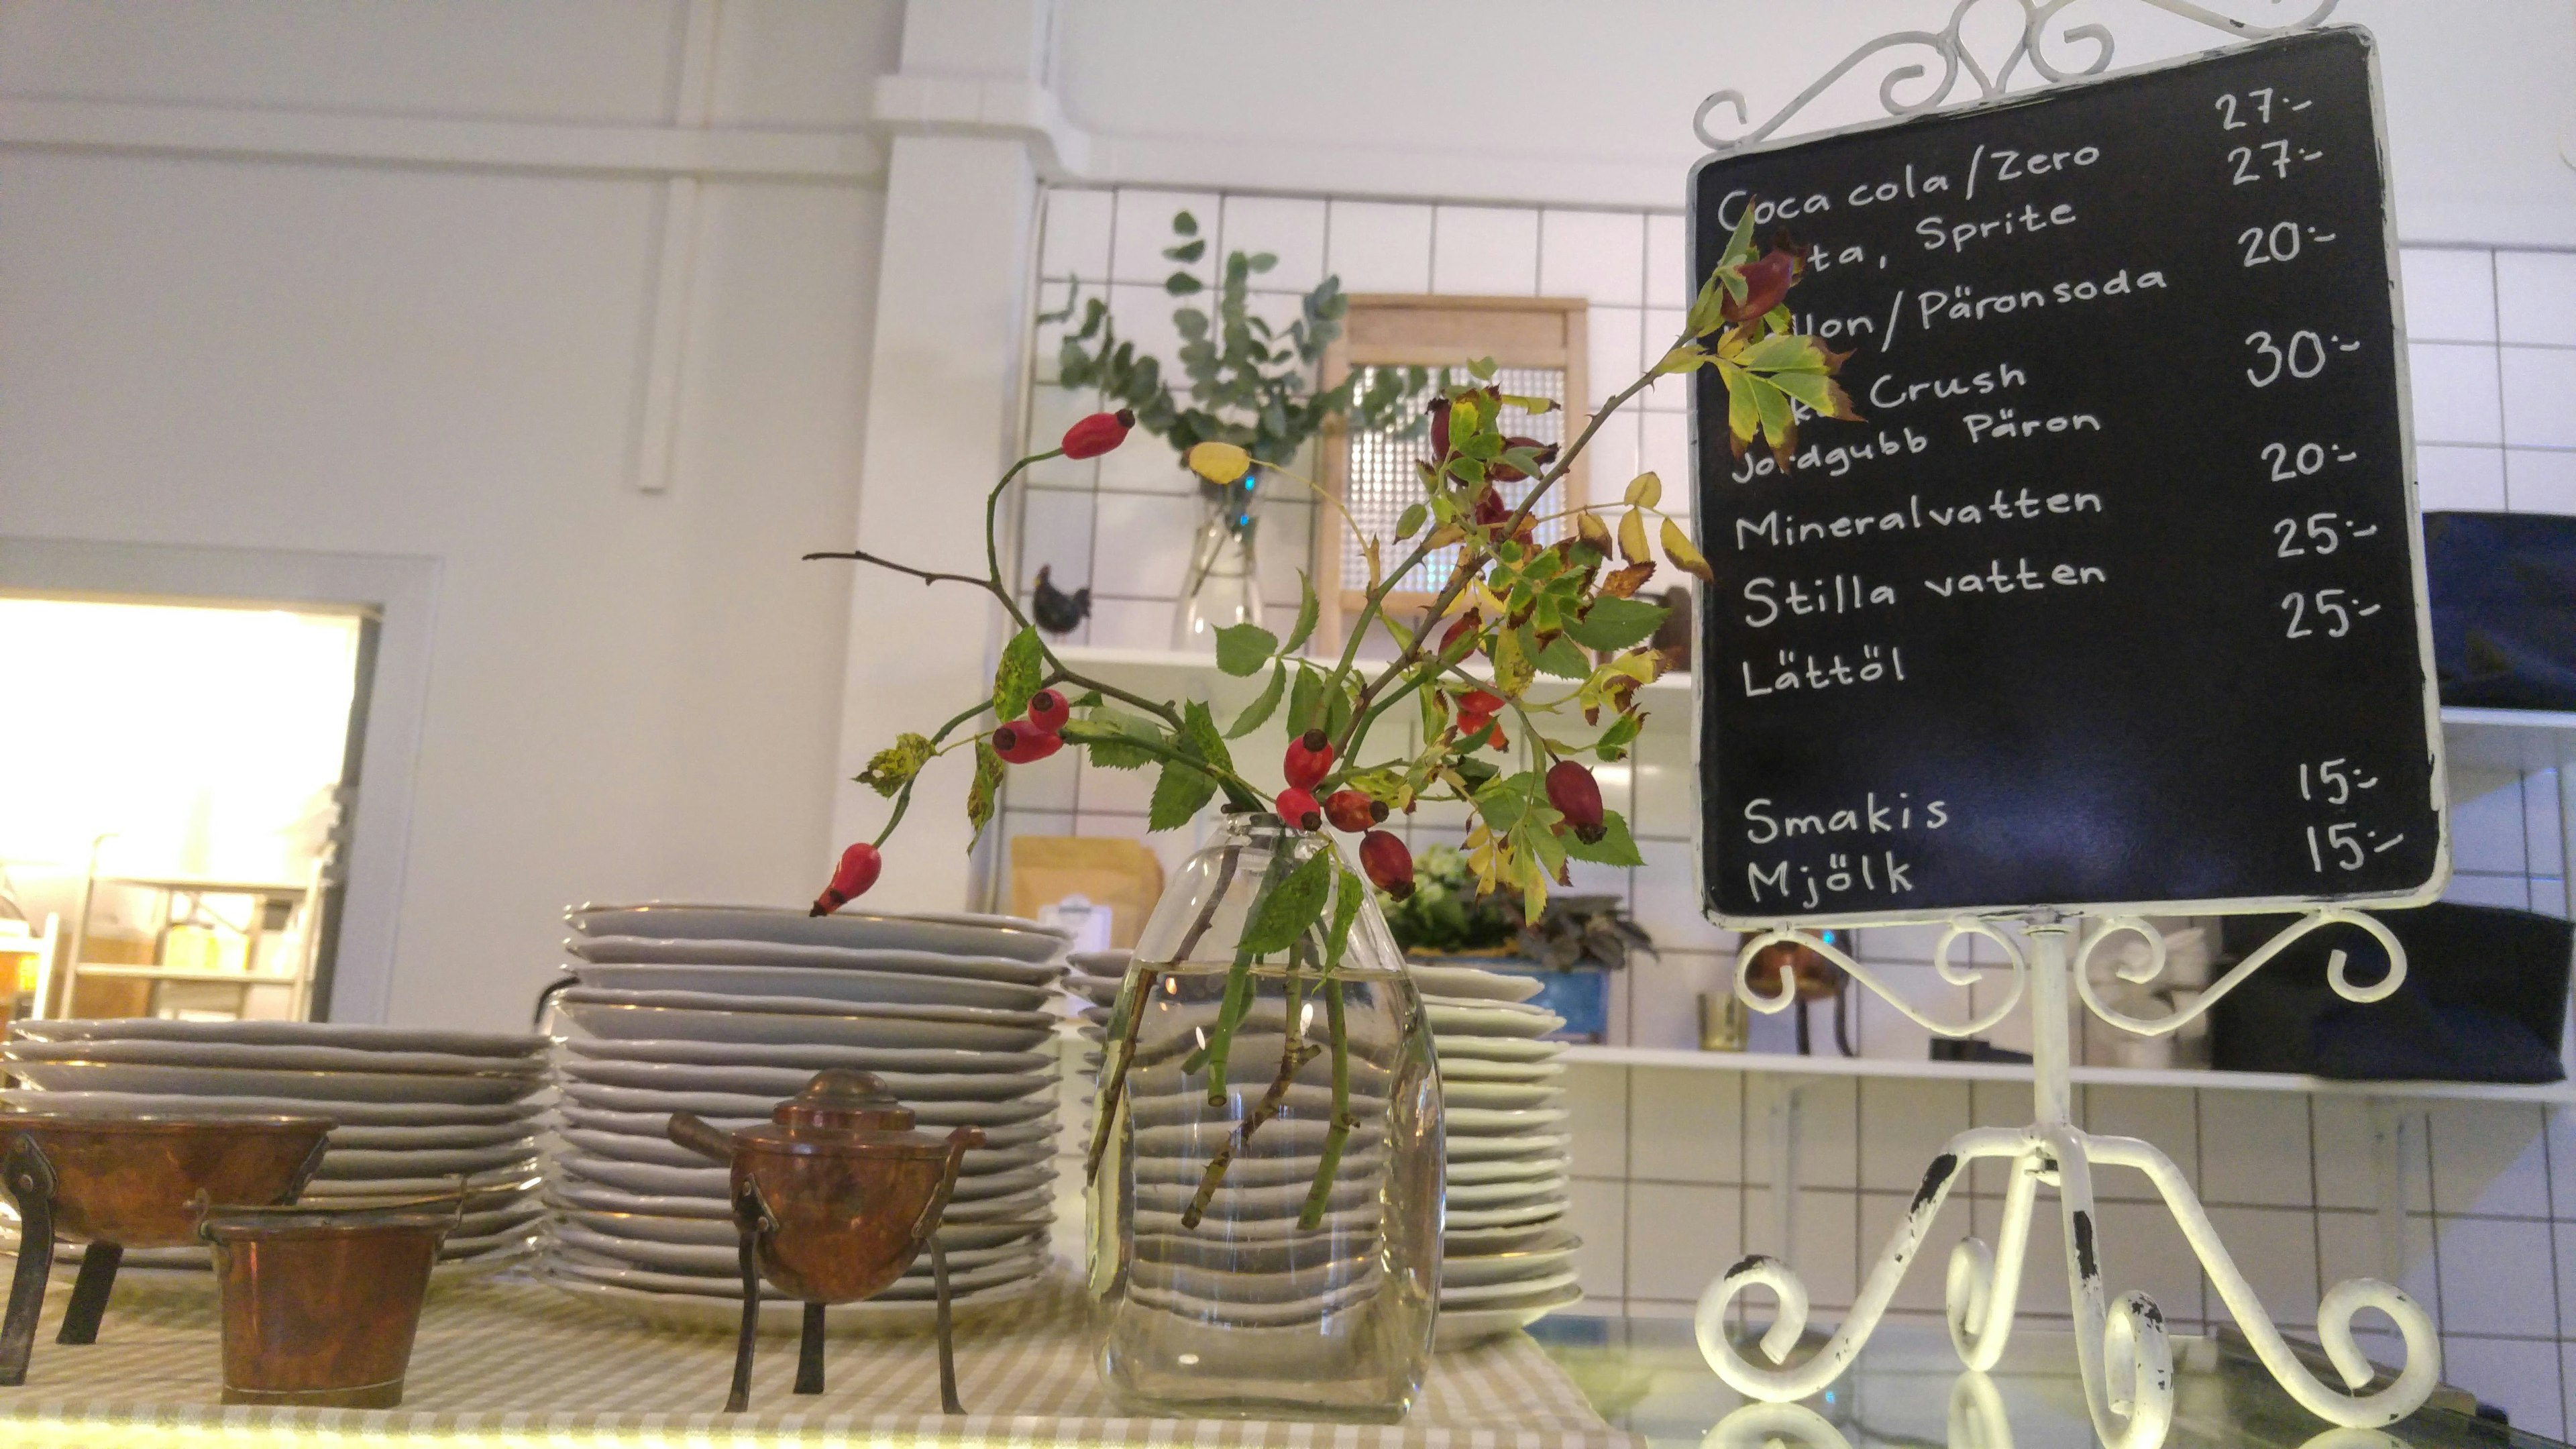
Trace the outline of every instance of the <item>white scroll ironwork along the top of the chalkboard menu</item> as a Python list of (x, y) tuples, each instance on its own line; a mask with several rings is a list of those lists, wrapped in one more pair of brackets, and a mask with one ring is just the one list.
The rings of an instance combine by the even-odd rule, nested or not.
[[(1940, 31), (1896, 31), (1888, 36), (1878, 36), (1875, 41), (1842, 57), (1842, 64), (1824, 72), (1824, 77), (1801, 90), (1795, 101), (1790, 101), (1777, 113), (1772, 113), (1772, 119), (1762, 121), (1759, 126), (1754, 126), (1741, 137), (1726, 139), (1708, 129), (1710, 113), (1716, 113), (1721, 106), (1734, 108), (1739, 126), (1752, 126), (1752, 111), (1747, 111), (1741, 90), (1710, 93), (1708, 101), (1700, 101), (1700, 108), (1690, 113), (1690, 129), (1692, 134), (1700, 137), (1700, 144), (1705, 144), (1713, 152), (1731, 152), (1739, 147), (1765, 142), (1798, 111), (1806, 111), (1808, 103), (1814, 103), (1819, 95), (1842, 83), (1842, 77), (1860, 70), (1862, 62), (1868, 62), (1875, 54), (1901, 52), (1901, 49), (1919, 49), (1929, 54), (1899, 64), (1886, 77), (1880, 77), (1878, 106), (1886, 108), (1888, 116), (1922, 116), (1924, 111), (1935, 111), (1950, 103), (1953, 93), (1960, 90), (1960, 77), (1976, 85), (1976, 95), (1963, 95), (1963, 101), (1994, 101), (1996, 95), (2004, 95), (2012, 88), (2014, 72), (2025, 62), (2030, 64), (2032, 80), (2038, 80), (2040, 85), (2056, 85), (2061, 80), (2071, 80), (2079, 75), (2102, 75), (2105, 70), (2110, 70), (2112, 59), (2110, 26), (2066, 26), (2066, 31), (2056, 36), (2056, 44), (2089, 44), (2092, 59), (2084, 59), (2081, 64), (2061, 64), (2048, 59), (2048, 46), (2053, 44), (2048, 36), (2048, 26), (2058, 21), (2058, 13), (2066, 10), (2066, 5), (2071, 5), (2074, 0), (2014, 0), (2014, 3), (2022, 8), (2022, 28), (2012, 41), (2012, 49), (2004, 52), (2002, 64), (1996, 64), (1991, 72), (1984, 64), (1978, 64), (1976, 54), (1971, 54), (1968, 41), (1963, 36), (1968, 13), (1984, 5), (1984, 0), (1958, 0), (1958, 8), (1950, 10), (1950, 23), (1942, 26)], [(2336, 5), (2336, 0), (2321, 0), (2313, 10), (2308, 10), (2298, 21), (2254, 23), (2223, 15), (2218, 10), (2210, 10), (2208, 5), (2192, 5), (2192, 0), (2138, 0), (2138, 3), (2154, 5), (2156, 10), (2164, 10), (2169, 15), (2200, 21), (2213, 31), (2226, 31), (2239, 39), (2285, 36), (2290, 31), (2313, 28), (2324, 23)], [(1919, 98), (1899, 101), (1896, 90), (1901, 85), (1911, 85), (1929, 77), (1935, 64), (1940, 67), (1940, 80), (1929, 83), (1929, 88)]]

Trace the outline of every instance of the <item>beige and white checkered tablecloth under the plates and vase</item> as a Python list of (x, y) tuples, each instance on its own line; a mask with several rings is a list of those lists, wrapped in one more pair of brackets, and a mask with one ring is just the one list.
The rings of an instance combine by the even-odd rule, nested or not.
[[(224, 1408), (211, 1297), (118, 1289), (98, 1343), (54, 1343), (49, 1305), (28, 1382), (0, 1390), (0, 1444), (242, 1444), (350, 1439), (489, 1444), (1010, 1444), (1283, 1449), (1636, 1449), (1520, 1333), (1437, 1354), (1399, 1426), (1128, 1418), (1092, 1372), (1079, 1287), (1064, 1279), (958, 1328), (958, 1397), (938, 1413), (927, 1333), (832, 1338), (829, 1392), (796, 1397), (793, 1336), (768, 1336), (752, 1410), (716, 1413), (732, 1336), (649, 1328), (536, 1281), (438, 1292), (402, 1408)], [(155, 1434), (160, 1431), (160, 1434)]]

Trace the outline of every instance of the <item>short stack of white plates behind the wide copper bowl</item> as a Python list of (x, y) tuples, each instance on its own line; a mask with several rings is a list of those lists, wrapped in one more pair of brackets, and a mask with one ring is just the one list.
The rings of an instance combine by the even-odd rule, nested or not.
[[(337, 1122), (301, 1201), (443, 1196), (466, 1183), (440, 1261), (495, 1266), (538, 1232), (536, 1134), (546, 1039), (335, 1021), (18, 1021), (0, 1047), (18, 1111), (263, 1114)], [(80, 1250), (70, 1248), (77, 1261)], [(201, 1248), (129, 1269), (211, 1269)]]

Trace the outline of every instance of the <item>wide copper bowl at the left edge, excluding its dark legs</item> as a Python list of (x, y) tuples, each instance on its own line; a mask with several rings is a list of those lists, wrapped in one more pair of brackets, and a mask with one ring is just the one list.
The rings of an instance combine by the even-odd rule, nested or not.
[(54, 1235), (121, 1248), (196, 1245), (198, 1201), (291, 1201), (322, 1160), (325, 1116), (0, 1114), (54, 1168)]

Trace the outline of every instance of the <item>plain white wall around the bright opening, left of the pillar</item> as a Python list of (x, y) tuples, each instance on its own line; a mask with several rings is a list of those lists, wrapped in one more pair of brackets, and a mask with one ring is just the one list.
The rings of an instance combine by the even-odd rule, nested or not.
[[(855, 124), (899, 34), (891, 0), (721, 15), (719, 129)], [(0, 111), (652, 126), (685, 21), (10, 0)], [(850, 585), (796, 554), (855, 516), (884, 196), (703, 183), (675, 469), (644, 495), (665, 199), (647, 173), (0, 150), (0, 536), (440, 562), (397, 1021), (526, 1021), (567, 902), (793, 902), (829, 861)]]

